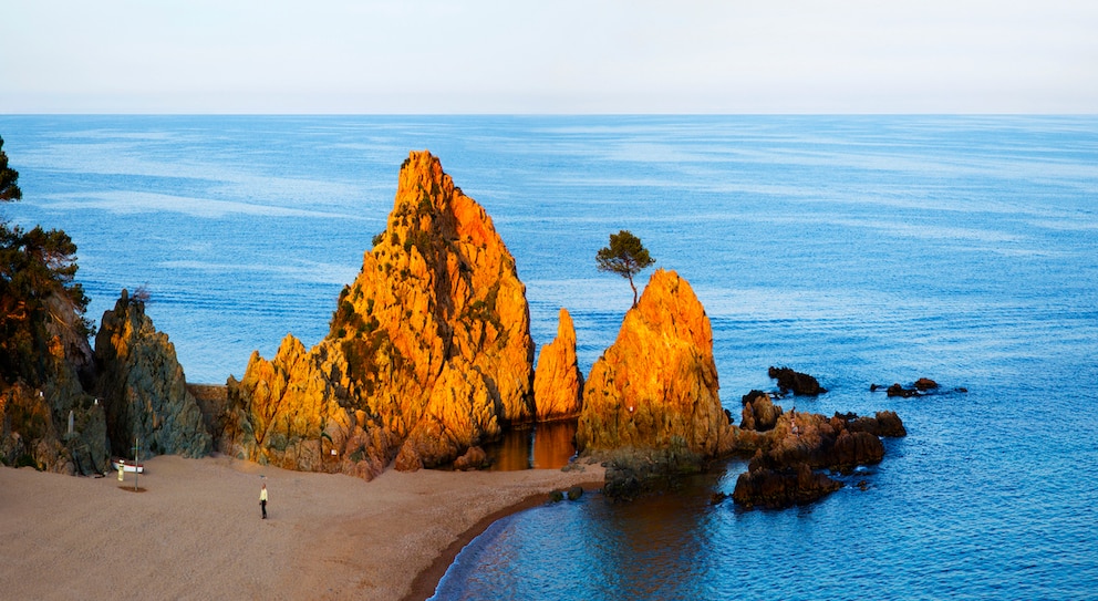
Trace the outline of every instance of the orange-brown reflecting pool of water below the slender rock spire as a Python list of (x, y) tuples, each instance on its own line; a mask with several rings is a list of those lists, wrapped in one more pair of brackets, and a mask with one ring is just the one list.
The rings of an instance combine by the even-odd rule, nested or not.
[(486, 445), (493, 472), (558, 469), (576, 455), (576, 421), (546, 422), (506, 432)]

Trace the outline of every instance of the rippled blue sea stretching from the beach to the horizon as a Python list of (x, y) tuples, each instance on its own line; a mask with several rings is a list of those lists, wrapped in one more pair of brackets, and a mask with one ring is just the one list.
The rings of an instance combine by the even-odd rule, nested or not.
[[(1098, 117), (8, 115), (0, 136), (23, 189), (0, 215), (72, 236), (89, 317), (144, 287), (190, 382), (318, 342), (428, 148), (515, 255), (537, 344), (560, 307), (584, 371), (613, 342), (632, 293), (594, 255), (629, 229), (705, 305), (734, 414), (788, 365), (830, 392), (787, 410), (908, 427), (809, 506), (711, 505), (731, 460), (516, 514), (437, 599), (1098, 599)], [(870, 392), (920, 376), (944, 392)]]

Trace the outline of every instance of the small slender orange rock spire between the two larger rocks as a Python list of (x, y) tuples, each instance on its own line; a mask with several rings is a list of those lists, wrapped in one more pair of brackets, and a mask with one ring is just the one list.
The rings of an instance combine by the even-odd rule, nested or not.
[(539, 421), (576, 417), (583, 398), (583, 374), (576, 359), (576, 327), (560, 310), (557, 338), (541, 348), (534, 372), (534, 404)]

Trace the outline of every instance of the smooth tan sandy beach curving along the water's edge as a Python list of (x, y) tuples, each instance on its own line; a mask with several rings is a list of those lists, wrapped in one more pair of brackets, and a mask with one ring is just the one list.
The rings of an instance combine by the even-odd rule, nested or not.
[(120, 483), (0, 467), (0, 597), (423, 599), (491, 519), (603, 478), (597, 465), (390, 469), (370, 483), (227, 457), (145, 467), (138, 493), (133, 474)]

